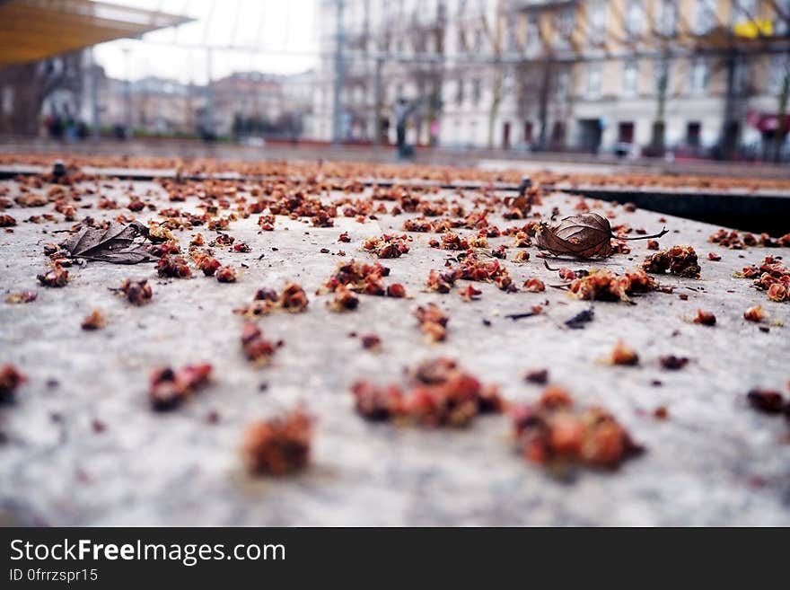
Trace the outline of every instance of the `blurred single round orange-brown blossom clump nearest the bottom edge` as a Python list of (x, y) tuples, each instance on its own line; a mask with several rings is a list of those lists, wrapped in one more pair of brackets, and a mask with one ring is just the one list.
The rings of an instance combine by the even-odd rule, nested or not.
[(241, 454), (253, 475), (285, 475), (310, 462), (313, 418), (294, 409), (278, 418), (259, 420), (247, 428)]

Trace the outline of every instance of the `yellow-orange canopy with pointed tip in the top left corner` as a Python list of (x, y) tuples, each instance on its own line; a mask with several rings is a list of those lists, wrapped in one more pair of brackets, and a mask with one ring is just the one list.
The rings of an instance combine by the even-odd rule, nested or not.
[(0, 0), (0, 66), (139, 37), (192, 20), (91, 0)]

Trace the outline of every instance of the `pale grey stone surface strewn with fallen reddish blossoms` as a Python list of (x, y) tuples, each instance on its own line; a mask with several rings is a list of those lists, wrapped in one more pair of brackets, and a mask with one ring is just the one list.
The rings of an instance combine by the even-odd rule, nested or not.
[[(8, 184), (13, 196), (16, 186)], [(134, 189), (160, 190), (149, 182), (134, 183)], [(197, 211), (196, 203), (176, 205)], [(538, 210), (557, 206), (571, 215), (576, 198), (555, 195), (545, 203)], [(592, 210), (610, 208), (599, 203)], [(650, 232), (664, 225), (659, 214), (616, 211), (615, 224)], [(675, 286), (674, 294), (635, 297), (633, 305), (596, 303), (586, 329), (564, 330), (562, 321), (589, 304), (559, 289), (507, 295), (476, 284), (483, 295), (472, 303), (462, 302), (457, 288), (448, 295), (424, 292), (429, 270), (442, 269), (450, 254), (427, 247), (433, 234), (412, 233), (408, 254), (382, 260), (391, 268), (387, 281), (403, 283), (413, 298), (363, 296), (358, 311), (330, 313), (329, 295), (313, 294), (338, 260), (370, 260), (362, 240), (399, 231), (407, 216), (364, 224), (338, 218), (332, 228), (277, 217), (274, 233), (259, 233), (257, 216), (242, 219), (230, 233), (252, 251), (217, 251), (223, 263), (240, 270), (235, 284), (202, 275), (160, 279), (153, 264), (91, 262), (69, 269), (69, 284), (52, 289), (37, 285), (47, 261), (41, 249), (63, 237), (53, 230), (71, 224), (22, 223), (42, 209), (4, 213), (20, 224), (13, 233), (0, 233), (0, 363), (12, 362), (29, 376), (17, 401), (0, 407), (4, 523), (790, 524), (788, 425), (753, 411), (743, 399), (755, 386), (786, 388), (787, 328), (772, 321), (790, 321), (790, 304), (770, 302), (750, 280), (732, 277), (733, 270), (786, 250), (725, 250), (707, 243), (715, 226), (670, 217), (665, 225), (671, 233), (662, 247), (692, 244), (701, 279), (661, 277), (663, 285)], [(500, 227), (518, 223), (491, 220)], [(351, 243), (338, 243), (343, 231)], [(177, 235), (185, 248), (191, 232)], [(512, 238), (489, 242), (494, 247)], [(632, 249), (629, 256), (609, 260), (551, 264), (621, 271), (648, 253), (645, 242), (633, 242)], [(339, 257), (338, 250), (347, 256)], [(531, 276), (557, 284), (557, 273), (543, 267), (535, 248), (529, 250), (525, 264), (505, 260), (516, 284)], [(723, 260), (707, 260), (708, 251)], [(510, 259), (515, 250), (508, 252)], [(124, 277), (149, 278), (153, 302), (136, 308), (113, 295), (108, 288)], [(231, 310), (249, 302), (257, 288), (279, 289), (288, 279), (307, 290), (309, 310), (259, 321), (264, 335), (284, 339), (285, 347), (271, 366), (253, 368), (241, 355), (241, 318)], [(38, 300), (3, 302), (7, 293), (22, 289), (37, 290)], [(688, 301), (679, 294), (689, 295)], [(427, 343), (412, 315), (417, 304), (429, 301), (451, 317), (443, 344)], [(505, 318), (545, 302), (538, 316)], [(754, 304), (770, 313), (768, 333), (742, 318)], [(107, 316), (104, 330), (80, 329), (92, 308)], [(698, 308), (716, 314), (714, 328), (687, 321)], [(358, 338), (348, 336), (351, 331), (377, 332), (382, 352), (364, 350)], [(636, 348), (639, 367), (601, 363), (619, 338)], [(691, 362), (666, 371), (658, 363), (665, 354)], [(349, 393), (355, 380), (397, 381), (404, 367), (439, 355), (457, 358), (485, 383), (498, 383), (514, 401), (539, 394), (540, 387), (525, 383), (523, 374), (547, 367), (552, 383), (566, 386), (580, 404), (610, 409), (647, 452), (618, 471), (582, 469), (558, 479), (516, 454), (505, 417), (479, 418), (462, 430), (428, 430), (372, 424), (355, 414)], [(199, 361), (215, 365), (214, 383), (180, 409), (154, 413), (146, 397), (151, 368)], [(652, 385), (654, 380), (663, 385)], [(298, 401), (317, 418), (312, 467), (294, 477), (251, 478), (238, 453), (244, 428)], [(662, 405), (669, 418), (657, 420), (652, 412)], [(217, 424), (206, 419), (213, 410)], [(94, 420), (106, 428), (96, 432)]]

